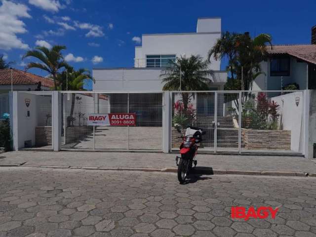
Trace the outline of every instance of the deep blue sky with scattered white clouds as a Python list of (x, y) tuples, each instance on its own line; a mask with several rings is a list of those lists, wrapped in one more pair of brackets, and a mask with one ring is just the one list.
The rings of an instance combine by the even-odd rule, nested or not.
[(0, 0), (0, 54), (23, 69), (28, 48), (62, 44), (77, 69), (131, 67), (142, 34), (195, 32), (197, 18), (206, 16), (221, 17), (222, 31), (306, 44), (315, 9), (315, 0)]

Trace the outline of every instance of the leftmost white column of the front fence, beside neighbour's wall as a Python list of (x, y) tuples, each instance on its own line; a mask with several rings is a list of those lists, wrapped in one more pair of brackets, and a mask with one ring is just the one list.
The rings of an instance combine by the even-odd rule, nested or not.
[(10, 128), (13, 141), (13, 151), (19, 150), (18, 137), (18, 92), (9, 92), (9, 113), (10, 113)]

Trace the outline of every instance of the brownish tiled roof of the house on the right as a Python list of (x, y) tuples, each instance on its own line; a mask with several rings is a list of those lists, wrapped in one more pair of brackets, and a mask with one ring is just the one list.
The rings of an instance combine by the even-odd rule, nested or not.
[(273, 45), (269, 54), (288, 54), (309, 63), (316, 64), (316, 44)]

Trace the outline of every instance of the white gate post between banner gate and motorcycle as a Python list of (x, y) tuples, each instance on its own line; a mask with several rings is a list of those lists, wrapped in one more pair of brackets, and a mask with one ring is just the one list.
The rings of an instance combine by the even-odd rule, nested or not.
[(171, 141), (171, 99), (172, 92), (164, 91), (162, 97), (162, 151), (170, 152)]

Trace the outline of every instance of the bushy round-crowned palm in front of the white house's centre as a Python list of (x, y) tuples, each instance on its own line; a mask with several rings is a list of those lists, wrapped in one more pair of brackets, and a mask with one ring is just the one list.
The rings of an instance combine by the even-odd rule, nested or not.
[[(162, 83), (165, 83), (162, 90), (208, 90), (211, 82), (209, 76), (212, 74), (208, 69), (208, 64), (199, 55), (192, 55), (190, 58), (181, 56), (175, 62), (170, 61), (170, 66), (160, 74)], [(186, 112), (189, 99), (194, 95), (191, 93), (181, 93), (181, 95), (184, 112)]]

